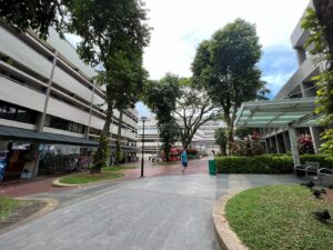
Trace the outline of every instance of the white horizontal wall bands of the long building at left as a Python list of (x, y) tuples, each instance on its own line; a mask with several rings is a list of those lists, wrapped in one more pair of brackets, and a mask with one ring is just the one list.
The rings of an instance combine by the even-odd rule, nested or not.
[[(93, 91), (91, 78), (95, 76), (95, 71), (81, 61), (74, 48), (68, 41), (61, 40), (53, 29), (50, 29), (48, 41), (43, 41), (32, 32), (17, 33), (0, 22), (0, 101), (34, 110), (41, 117), (56, 50), (59, 56), (47, 114), (82, 124), (85, 130), (102, 130), (107, 108), (105, 94), (100, 87), (95, 87)], [(123, 116), (123, 141), (135, 144), (138, 111), (129, 109), (127, 112), (129, 114)], [(113, 121), (117, 121), (119, 111), (114, 110), (113, 113)], [(36, 124), (26, 124), (0, 118), (0, 124), (18, 127), (18, 123), (22, 123), (21, 128), (32, 130), (38, 127), (38, 121)], [(44, 131), (73, 137), (84, 136), (51, 127), (44, 127)], [(118, 127), (112, 123), (110, 131), (113, 136), (117, 134)], [(90, 137), (94, 138), (95, 134)]]

